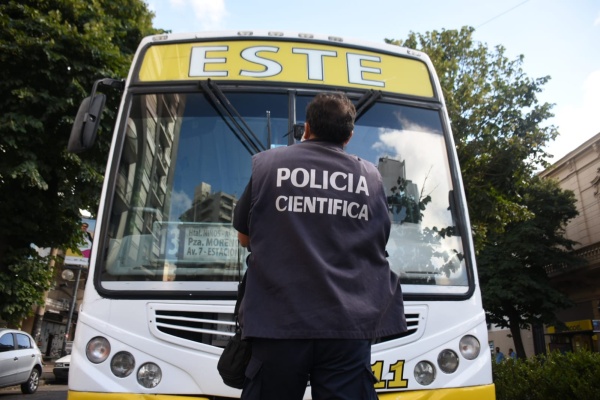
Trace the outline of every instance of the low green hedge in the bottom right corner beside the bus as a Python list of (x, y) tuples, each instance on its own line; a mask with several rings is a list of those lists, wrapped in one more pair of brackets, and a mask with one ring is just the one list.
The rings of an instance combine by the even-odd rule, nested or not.
[(600, 400), (600, 353), (553, 352), (493, 366), (497, 400)]

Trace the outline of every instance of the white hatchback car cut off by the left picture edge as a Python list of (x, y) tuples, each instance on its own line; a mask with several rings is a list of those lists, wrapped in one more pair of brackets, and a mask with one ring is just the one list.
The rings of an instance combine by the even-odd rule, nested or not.
[(35, 393), (42, 376), (42, 353), (31, 335), (0, 328), (0, 387), (21, 385), (25, 394)]

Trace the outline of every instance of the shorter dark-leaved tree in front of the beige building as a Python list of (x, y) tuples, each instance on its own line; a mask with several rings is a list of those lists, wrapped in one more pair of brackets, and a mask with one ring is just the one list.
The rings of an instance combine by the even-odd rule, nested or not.
[(509, 328), (518, 357), (525, 358), (521, 329), (555, 323), (557, 308), (571, 306), (551, 286), (546, 267), (580, 260), (571, 252), (575, 242), (563, 236), (567, 221), (577, 216), (573, 192), (562, 190), (555, 181), (533, 177), (522, 199), (533, 217), (490, 235), (478, 264), (488, 322)]

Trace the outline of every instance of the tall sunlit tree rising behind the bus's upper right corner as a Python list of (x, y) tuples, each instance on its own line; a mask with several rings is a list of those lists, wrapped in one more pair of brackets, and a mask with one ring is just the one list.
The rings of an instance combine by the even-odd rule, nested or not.
[(523, 56), (510, 61), (502, 46), (489, 51), (473, 40), (473, 32), (463, 27), (386, 41), (425, 52), (437, 70), (480, 249), (490, 232), (530, 217), (518, 188), (546, 166), (543, 147), (557, 131), (542, 125), (553, 116), (552, 106), (536, 98), (550, 78), (527, 77)]

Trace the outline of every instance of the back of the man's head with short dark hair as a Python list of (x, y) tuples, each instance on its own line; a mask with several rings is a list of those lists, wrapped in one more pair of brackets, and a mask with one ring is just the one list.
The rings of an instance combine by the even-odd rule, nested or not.
[(343, 93), (319, 93), (306, 107), (306, 122), (319, 139), (344, 143), (354, 130), (356, 109)]

